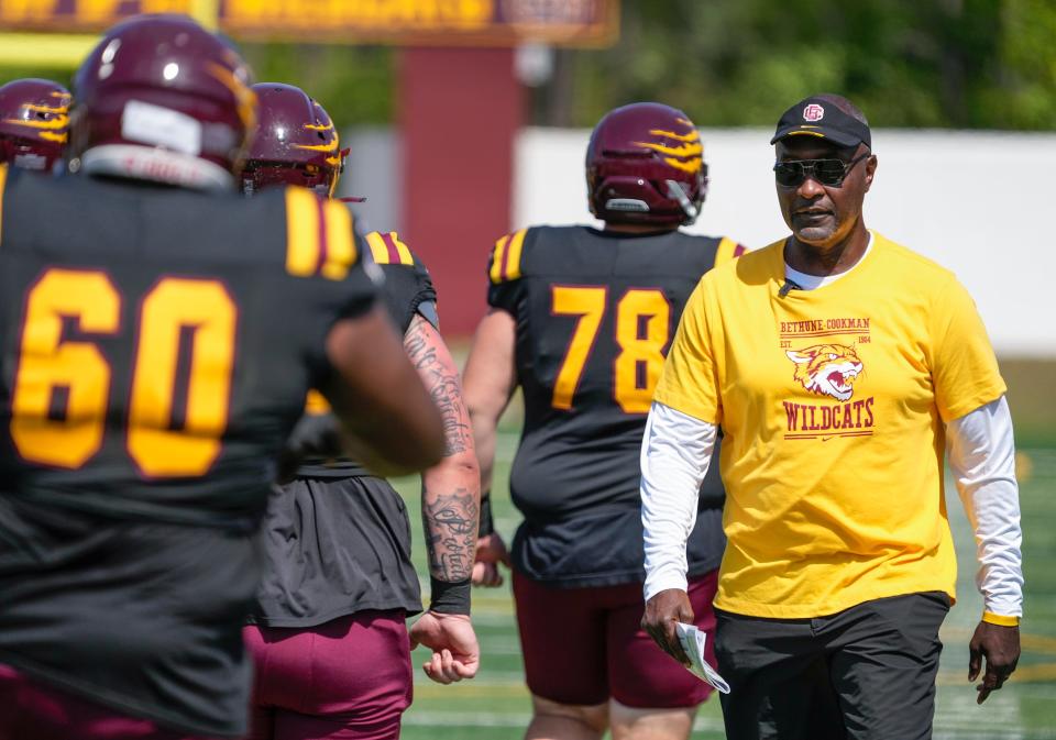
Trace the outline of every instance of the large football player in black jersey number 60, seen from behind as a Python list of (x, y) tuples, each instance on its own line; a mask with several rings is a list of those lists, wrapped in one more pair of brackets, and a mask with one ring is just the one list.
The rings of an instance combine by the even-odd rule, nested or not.
[(238, 192), (233, 48), (140, 16), (75, 90), (79, 174), (0, 168), (0, 738), (239, 738), (253, 535), (306, 393), (391, 471), (440, 459), (441, 419), (348, 211)]

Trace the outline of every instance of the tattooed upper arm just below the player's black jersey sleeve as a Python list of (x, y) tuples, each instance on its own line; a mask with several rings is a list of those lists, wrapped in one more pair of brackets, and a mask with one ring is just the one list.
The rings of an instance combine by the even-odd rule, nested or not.
[(440, 411), (443, 420), (443, 455), (450, 457), (470, 449), (473, 431), (470, 428), (469, 410), (462, 400), (459, 373), (441, 360), (433, 345), (433, 341), (438, 340), (432, 327), (416, 316), (404, 335), (404, 350)]

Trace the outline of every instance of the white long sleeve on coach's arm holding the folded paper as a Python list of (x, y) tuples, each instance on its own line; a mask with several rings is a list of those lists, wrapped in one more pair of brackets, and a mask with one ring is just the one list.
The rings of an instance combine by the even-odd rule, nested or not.
[(685, 543), (715, 437), (715, 424), (663, 404), (653, 401), (649, 410), (641, 441), (646, 600), (668, 588), (688, 587)]

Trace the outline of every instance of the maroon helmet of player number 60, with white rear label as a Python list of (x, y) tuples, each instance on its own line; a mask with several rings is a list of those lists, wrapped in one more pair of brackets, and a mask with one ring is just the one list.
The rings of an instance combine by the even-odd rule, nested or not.
[(185, 15), (113, 26), (74, 78), (69, 167), (229, 188), (256, 125), (242, 57)]

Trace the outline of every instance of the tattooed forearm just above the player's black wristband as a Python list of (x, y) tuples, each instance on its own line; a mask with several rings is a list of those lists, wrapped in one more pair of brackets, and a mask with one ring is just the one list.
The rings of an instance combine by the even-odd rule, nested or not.
[(466, 488), (424, 496), (421, 519), (426, 527), (429, 572), (440, 581), (465, 581), (472, 575), (476, 546), (476, 497)]

